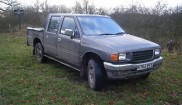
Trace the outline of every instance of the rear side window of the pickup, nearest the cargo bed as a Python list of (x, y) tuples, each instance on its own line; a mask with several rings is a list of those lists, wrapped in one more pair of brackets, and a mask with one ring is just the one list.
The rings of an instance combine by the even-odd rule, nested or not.
[(58, 16), (51, 17), (47, 31), (57, 33), (59, 23), (60, 23), (60, 17)]

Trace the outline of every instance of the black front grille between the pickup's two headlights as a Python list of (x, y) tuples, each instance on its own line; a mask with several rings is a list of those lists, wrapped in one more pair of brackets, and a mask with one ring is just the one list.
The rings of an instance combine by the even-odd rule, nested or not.
[(153, 50), (132, 52), (133, 62), (145, 62), (153, 58)]

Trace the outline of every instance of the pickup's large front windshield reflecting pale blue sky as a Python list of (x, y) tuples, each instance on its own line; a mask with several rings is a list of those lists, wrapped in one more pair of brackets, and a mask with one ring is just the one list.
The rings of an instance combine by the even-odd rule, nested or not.
[(80, 16), (78, 20), (85, 35), (116, 35), (125, 33), (123, 29), (109, 17)]

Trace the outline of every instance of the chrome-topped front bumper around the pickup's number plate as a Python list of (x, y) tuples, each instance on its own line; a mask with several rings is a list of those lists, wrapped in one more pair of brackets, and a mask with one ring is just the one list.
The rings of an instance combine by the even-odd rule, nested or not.
[[(107, 72), (107, 76), (111, 79), (122, 79), (122, 78), (132, 78), (137, 77), (140, 75), (144, 75), (146, 73), (149, 73), (153, 70), (156, 70), (159, 68), (159, 66), (162, 64), (163, 58), (159, 57), (157, 59), (154, 59), (149, 62), (145, 63), (137, 63), (137, 64), (113, 64), (109, 62), (104, 62), (104, 67)], [(153, 68), (150, 69), (144, 69), (144, 70), (137, 70), (137, 66), (146, 64), (146, 63), (152, 63)]]

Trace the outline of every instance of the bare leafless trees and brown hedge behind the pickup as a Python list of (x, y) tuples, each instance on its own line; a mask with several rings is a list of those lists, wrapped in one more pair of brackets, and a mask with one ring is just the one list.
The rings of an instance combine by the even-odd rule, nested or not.
[(51, 6), (48, 0), (44, 2), (37, 0), (32, 6), (23, 7), (14, 0), (0, 0), (1, 4), (7, 5), (6, 8), (0, 7), (0, 23), (4, 26), (17, 25), (17, 18), (13, 13), (16, 8), (25, 11), (22, 23), (34, 27), (42, 27), (49, 13), (110, 15), (129, 34), (150, 39), (164, 48), (170, 41), (178, 48), (182, 45), (182, 4), (169, 8), (167, 4), (158, 1), (154, 8), (133, 3), (127, 8), (121, 5), (112, 9), (96, 8), (89, 0), (75, 2), (71, 8), (65, 5)]

